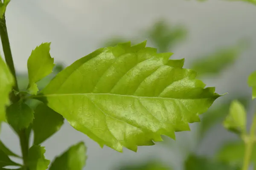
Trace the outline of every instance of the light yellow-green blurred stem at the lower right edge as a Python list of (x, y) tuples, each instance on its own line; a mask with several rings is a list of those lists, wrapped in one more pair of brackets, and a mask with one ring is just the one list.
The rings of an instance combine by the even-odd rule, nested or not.
[(255, 131), (256, 131), (256, 113), (253, 116), (253, 122), (250, 127), (250, 136), (249, 140), (245, 142), (245, 153), (244, 153), (244, 165), (242, 170), (248, 170), (250, 166), (251, 155), (253, 151), (253, 144), (255, 138)]

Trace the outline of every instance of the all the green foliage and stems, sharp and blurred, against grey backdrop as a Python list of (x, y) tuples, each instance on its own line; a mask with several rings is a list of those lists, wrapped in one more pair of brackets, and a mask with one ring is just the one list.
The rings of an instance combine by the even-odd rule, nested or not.
[[(61, 128), (64, 119), (101, 147), (107, 145), (119, 152), (123, 147), (137, 151), (137, 146), (162, 141), (162, 135), (175, 139), (175, 132), (190, 130), (189, 123), (200, 122), (199, 115), (207, 112), (220, 97), (215, 88), (205, 88), (206, 85), (196, 79), (197, 72), (183, 68), (184, 59), (170, 60), (172, 53), (157, 53), (155, 48), (145, 47), (146, 42), (132, 46), (130, 42), (117, 43), (123, 41), (122, 38), (108, 42), (111, 47), (100, 48), (65, 69), (55, 66), (49, 53), (50, 43), (42, 43), (28, 59), (28, 79), (20, 82), (23, 78), (16, 78), (6, 32), (4, 15), (9, 2), (0, 1), (0, 37), (8, 47), (3, 50), (6, 63), (0, 57), (0, 123), (7, 122), (20, 138), (23, 165), (10, 159), (9, 156), (20, 156), (0, 141), (0, 170), (7, 170), (6, 166), (18, 166), (19, 170), (48, 167), (49, 170), (81, 170), (87, 159), (83, 142), (71, 146), (52, 164), (44, 156), (46, 150), (41, 144)], [(186, 37), (185, 28), (171, 27), (164, 20), (145, 32), (160, 52), (168, 51)], [(3, 38), (3, 34), (6, 37)], [(221, 49), (206, 59), (199, 59), (192, 68), (200, 76), (220, 73), (238, 58), (241, 47), (239, 44)], [(22, 84), (22, 90), (13, 87), (17, 81), (18, 85)], [(248, 84), (253, 88), (254, 99), (255, 72)], [(186, 170), (238, 170), (241, 167), (248, 170), (251, 162), (256, 163), (256, 116), (247, 133), (246, 106), (242, 101), (248, 100), (239, 98), (226, 100), (219, 108), (212, 109), (209, 116), (203, 117), (200, 129), (204, 134), (226, 116), (224, 127), (237, 133), (241, 141), (225, 145), (216, 159), (189, 153), (184, 162)], [(34, 140), (30, 146), (32, 131)], [(149, 161), (119, 169), (170, 168)]]

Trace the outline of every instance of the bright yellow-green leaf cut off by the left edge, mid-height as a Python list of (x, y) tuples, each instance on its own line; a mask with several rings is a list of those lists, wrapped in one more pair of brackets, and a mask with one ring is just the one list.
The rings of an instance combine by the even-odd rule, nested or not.
[(6, 120), (6, 105), (9, 105), (9, 93), (12, 91), (14, 78), (0, 57), (0, 122)]

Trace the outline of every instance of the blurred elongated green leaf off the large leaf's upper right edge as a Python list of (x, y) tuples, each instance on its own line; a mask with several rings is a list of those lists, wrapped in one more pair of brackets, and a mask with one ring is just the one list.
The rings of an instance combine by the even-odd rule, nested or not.
[(221, 48), (212, 54), (195, 59), (191, 68), (197, 71), (199, 76), (220, 74), (227, 66), (236, 61), (247, 44), (243, 40), (238, 45)]

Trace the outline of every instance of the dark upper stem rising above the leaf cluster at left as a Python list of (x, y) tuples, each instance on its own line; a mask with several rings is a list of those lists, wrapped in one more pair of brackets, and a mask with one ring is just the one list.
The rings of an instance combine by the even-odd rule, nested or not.
[[(9, 66), (9, 69), (15, 78), (15, 85), (13, 89), (15, 91), (19, 91), (18, 84), (17, 84), (17, 77), (15, 73), (15, 67), (12, 59), (12, 52), (11, 52), (11, 47), (10, 47), (10, 42), (9, 42), (9, 37), (7, 33), (7, 27), (6, 27), (6, 19), (5, 15), (3, 17), (0, 17), (0, 37), (2, 41), (2, 46), (3, 46), (3, 54), (6, 60), (6, 64)], [(11, 101), (12, 102), (17, 102), (19, 101), (20, 97), (16, 96), (14, 92), (12, 91), (11, 93)]]

